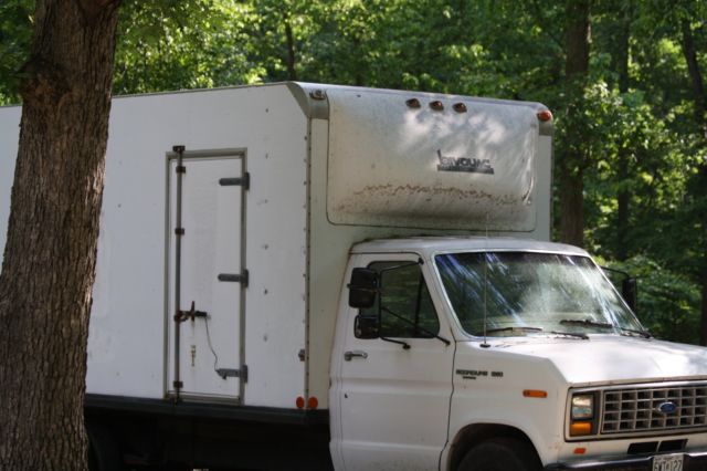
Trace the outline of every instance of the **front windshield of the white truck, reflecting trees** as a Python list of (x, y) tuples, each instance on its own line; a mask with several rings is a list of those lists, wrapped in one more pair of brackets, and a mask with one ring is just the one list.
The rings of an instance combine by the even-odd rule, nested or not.
[(587, 257), (528, 252), (435, 258), (462, 327), (472, 335), (645, 333)]

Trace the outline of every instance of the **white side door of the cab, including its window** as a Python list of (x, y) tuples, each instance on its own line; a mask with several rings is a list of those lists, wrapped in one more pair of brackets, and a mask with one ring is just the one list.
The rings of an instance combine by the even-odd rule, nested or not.
[(359, 259), (359, 266), (378, 272), (381, 293), (370, 308), (348, 307), (346, 332), (338, 329), (335, 459), (346, 471), (437, 469), (452, 396), (449, 325), (437, 315), (416, 254)]

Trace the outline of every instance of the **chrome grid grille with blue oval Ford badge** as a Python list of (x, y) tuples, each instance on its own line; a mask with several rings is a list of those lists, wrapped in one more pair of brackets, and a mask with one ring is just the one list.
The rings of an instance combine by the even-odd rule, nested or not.
[(602, 396), (602, 433), (707, 427), (707, 383), (608, 389)]

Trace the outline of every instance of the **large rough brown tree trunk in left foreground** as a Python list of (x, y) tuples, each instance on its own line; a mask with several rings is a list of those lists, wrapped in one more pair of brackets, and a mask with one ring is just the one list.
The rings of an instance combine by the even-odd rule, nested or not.
[(86, 342), (119, 0), (38, 0), (0, 274), (0, 469), (86, 468)]

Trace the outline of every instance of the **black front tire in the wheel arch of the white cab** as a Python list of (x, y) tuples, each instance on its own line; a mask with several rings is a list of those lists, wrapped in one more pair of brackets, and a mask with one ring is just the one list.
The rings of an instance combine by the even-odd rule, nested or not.
[(493, 438), (472, 448), (457, 471), (539, 471), (540, 460), (530, 443)]

